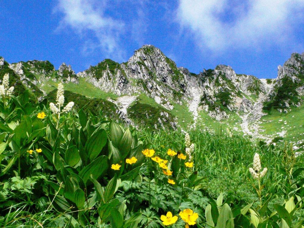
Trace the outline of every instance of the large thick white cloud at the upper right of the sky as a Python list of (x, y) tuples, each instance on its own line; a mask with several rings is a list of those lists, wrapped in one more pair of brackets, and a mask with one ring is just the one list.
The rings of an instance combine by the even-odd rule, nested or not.
[(303, 9), (303, 0), (180, 0), (177, 19), (212, 51), (262, 48), (292, 42)]

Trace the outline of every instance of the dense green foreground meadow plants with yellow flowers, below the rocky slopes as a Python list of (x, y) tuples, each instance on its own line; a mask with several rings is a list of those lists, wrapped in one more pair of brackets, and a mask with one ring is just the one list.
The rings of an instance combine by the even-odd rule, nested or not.
[(287, 144), (136, 130), (60, 96), (0, 101), (1, 227), (303, 227), (303, 156)]

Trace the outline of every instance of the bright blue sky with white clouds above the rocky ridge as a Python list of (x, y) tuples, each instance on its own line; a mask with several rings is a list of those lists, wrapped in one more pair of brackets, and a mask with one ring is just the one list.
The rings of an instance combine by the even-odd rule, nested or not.
[(275, 78), (279, 64), (304, 52), (303, 0), (1, 3), (0, 56), (9, 63), (65, 62), (79, 72), (105, 58), (125, 62), (152, 44), (194, 73), (226, 64)]

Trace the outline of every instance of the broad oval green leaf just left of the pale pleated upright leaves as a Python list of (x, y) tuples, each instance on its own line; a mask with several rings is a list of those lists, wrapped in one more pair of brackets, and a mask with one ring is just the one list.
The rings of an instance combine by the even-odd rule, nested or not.
[(85, 143), (85, 151), (91, 161), (93, 161), (101, 152), (107, 142), (107, 133), (104, 129), (99, 129), (88, 138)]

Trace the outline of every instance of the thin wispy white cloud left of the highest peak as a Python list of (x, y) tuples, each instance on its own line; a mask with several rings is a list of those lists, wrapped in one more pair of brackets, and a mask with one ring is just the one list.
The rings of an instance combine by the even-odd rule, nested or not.
[[(57, 11), (63, 13), (58, 29), (71, 27), (84, 42), (84, 52), (101, 48), (109, 56), (121, 58), (120, 36), (124, 33), (122, 21), (105, 15), (107, 1), (60, 0)], [(94, 37), (88, 37), (93, 34)], [(97, 42), (92, 38), (97, 38)]]

